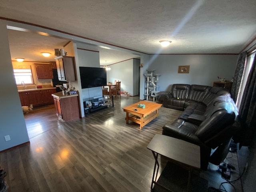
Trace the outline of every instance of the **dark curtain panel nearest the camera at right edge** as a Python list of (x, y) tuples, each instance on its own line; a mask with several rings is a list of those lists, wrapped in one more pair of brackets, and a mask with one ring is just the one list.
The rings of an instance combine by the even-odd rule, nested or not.
[(256, 58), (249, 73), (239, 109), (241, 129), (234, 139), (241, 146), (252, 146), (256, 136)]

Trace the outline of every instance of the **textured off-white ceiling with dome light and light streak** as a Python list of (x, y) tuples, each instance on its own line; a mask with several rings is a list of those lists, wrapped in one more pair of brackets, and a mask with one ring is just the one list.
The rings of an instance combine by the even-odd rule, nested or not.
[[(255, 0), (0, 0), (0, 17), (148, 54), (237, 54), (256, 36), (255, 10)], [(40, 37), (32, 37), (36, 46)], [(161, 48), (160, 40), (172, 43)], [(46, 42), (38, 46), (52, 49), (65, 40), (48, 40), (52, 46)], [(108, 54), (101, 64), (110, 60)]]

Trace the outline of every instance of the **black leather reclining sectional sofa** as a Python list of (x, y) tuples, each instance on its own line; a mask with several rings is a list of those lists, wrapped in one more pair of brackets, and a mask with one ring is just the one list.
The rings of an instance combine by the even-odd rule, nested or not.
[(162, 134), (200, 146), (202, 170), (208, 162), (219, 165), (226, 158), (238, 130), (238, 110), (228, 90), (173, 84), (170, 94), (164, 95), (163, 106), (183, 112), (172, 124), (163, 126)]

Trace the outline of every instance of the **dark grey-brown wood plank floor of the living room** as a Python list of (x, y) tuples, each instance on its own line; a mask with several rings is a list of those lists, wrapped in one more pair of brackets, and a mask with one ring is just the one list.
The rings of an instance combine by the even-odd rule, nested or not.
[[(0, 165), (8, 172), (9, 192), (149, 192), (154, 157), (146, 147), (162, 126), (181, 113), (161, 107), (158, 118), (140, 130), (126, 124), (122, 108), (140, 101), (135, 97), (114, 98), (114, 108), (98, 110), (86, 118), (58, 120), (54, 105), (34, 108), (24, 115), (30, 143), (0, 153)], [(231, 157), (232, 156), (232, 157)], [(225, 161), (238, 170), (236, 152)], [(160, 170), (166, 162), (160, 158)], [(232, 170), (231, 180), (239, 177)], [(196, 172), (219, 188), (217, 166)], [(233, 186), (234, 188), (233, 188)], [(240, 180), (224, 184), (228, 192), (242, 192)], [(223, 189), (223, 188), (222, 188)]]

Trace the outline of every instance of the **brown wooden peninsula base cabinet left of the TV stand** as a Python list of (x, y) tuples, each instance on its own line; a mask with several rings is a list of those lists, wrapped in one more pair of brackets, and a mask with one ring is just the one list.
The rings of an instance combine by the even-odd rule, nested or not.
[(78, 94), (70, 95), (62, 92), (52, 94), (56, 116), (65, 122), (80, 118)]

